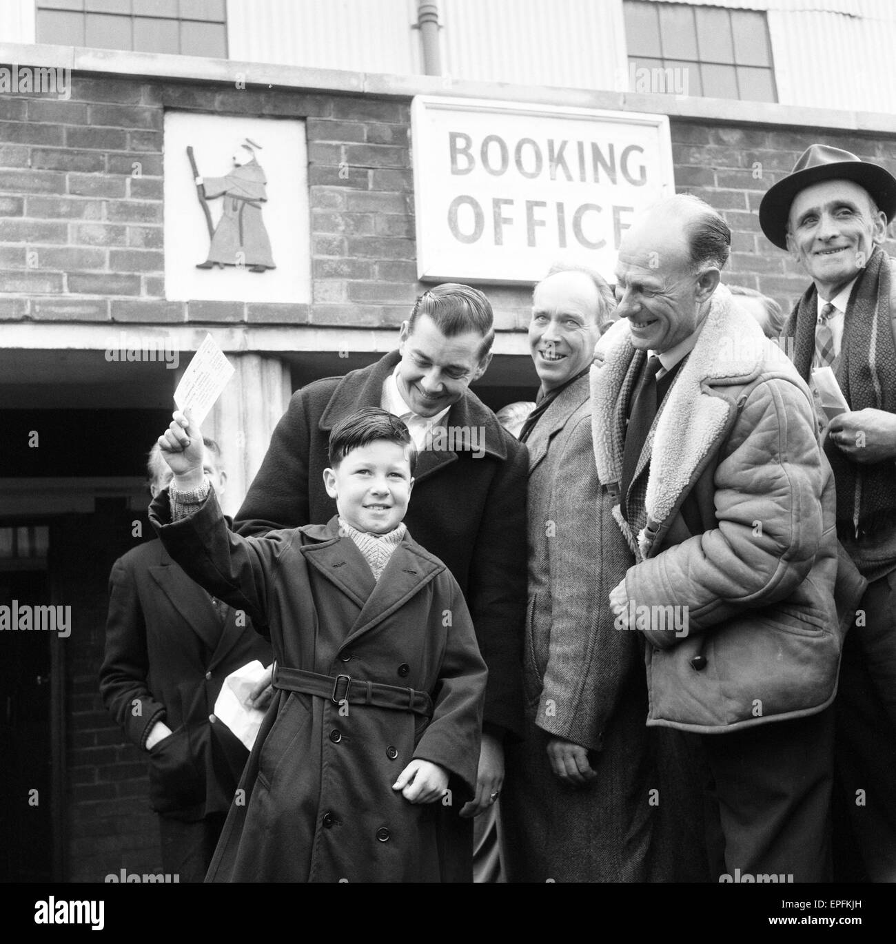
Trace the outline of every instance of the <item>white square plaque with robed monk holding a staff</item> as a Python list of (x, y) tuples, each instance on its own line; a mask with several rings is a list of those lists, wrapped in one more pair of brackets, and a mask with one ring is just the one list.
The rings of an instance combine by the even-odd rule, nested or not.
[(167, 111), (165, 296), (311, 301), (305, 123)]

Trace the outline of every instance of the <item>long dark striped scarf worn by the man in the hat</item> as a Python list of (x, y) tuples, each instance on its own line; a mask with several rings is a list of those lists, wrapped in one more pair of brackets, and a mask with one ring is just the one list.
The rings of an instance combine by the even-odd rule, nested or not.
[[(871, 407), (896, 413), (896, 343), (890, 325), (890, 271), (886, 253), (875, 246), (855, 280), (846, 306), (837, 383), (853, 411)], [(794, 339), (793, 362), (809, 381), (815, 353), (818, 292), (809, 286), (794, 306), (783, 336)], [(853, 463), (831, 442), (824, 451), (837, 482), (837, 527), (856, 539), (896, 523), (896, 474), (891, 460)]]

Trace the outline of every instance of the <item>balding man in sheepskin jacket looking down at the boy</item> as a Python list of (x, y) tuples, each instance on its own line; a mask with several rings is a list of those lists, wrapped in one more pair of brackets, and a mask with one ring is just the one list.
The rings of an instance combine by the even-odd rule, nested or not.
[(598, 474), (636, 562), (610, 604), (647, 642), (647, 723), (700, 735), (713, 879), (824, 881), (834, 481), (808, 388), (719, 284), (730, 244), (684, 195), (623, 236), (592, 369)]

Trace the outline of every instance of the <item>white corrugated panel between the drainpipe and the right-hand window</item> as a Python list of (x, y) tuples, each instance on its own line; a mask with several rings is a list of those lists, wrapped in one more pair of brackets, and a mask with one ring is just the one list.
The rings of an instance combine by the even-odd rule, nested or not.
[(455, 78), (617, 88), (621, 0), (441, 0), (443, 71)]

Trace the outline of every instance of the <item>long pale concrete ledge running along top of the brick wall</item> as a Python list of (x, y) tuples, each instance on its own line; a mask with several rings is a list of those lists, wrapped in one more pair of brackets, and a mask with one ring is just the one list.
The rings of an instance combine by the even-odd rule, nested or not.
[(738, 125), (771, 125), (828, 128), (896, 134), (896, 115), (871, 111), (803, 108), (770, 102), (731, 101), (723, 98), (674, 94), (638, 94), (552, 86), (512, 85), (503, 82), (471, 82), (451, 76), (393, 76), (337, 69), (199, 56), (137, 53), (80, 46), (54, 46), (0, 42), (0, 63), (50, 66), (76, 73), (145, 79), (216, 82), (246, 88), (296, 89), (337, 94), (365, 93), (383, 98), (410, 99), (417, 94), (494, 98), (575, 108), (646, 111), (694, 121)]

